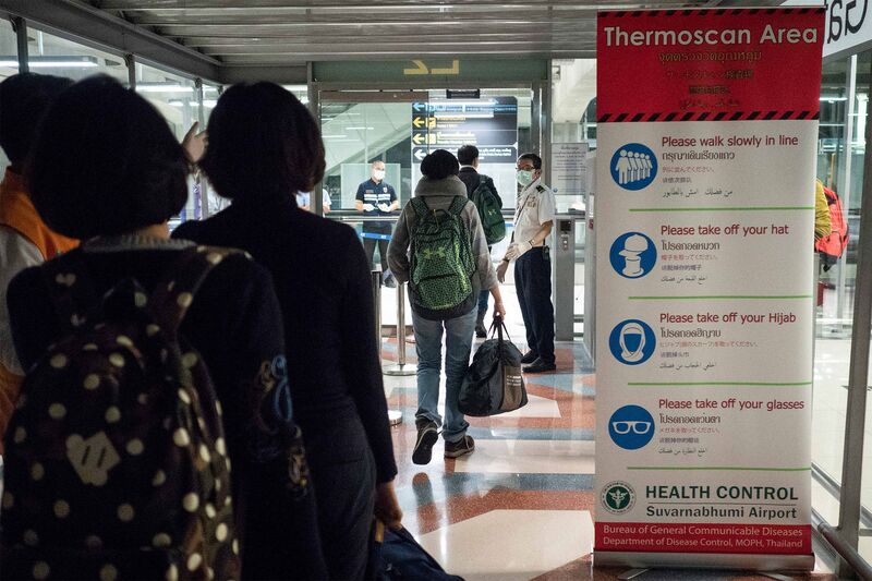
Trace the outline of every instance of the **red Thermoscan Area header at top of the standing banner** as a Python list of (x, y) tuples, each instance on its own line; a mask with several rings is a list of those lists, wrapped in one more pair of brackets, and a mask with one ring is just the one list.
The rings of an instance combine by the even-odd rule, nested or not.
[(823, 28), (823, 8), (601, 12), (597, 119), (816, 119)]

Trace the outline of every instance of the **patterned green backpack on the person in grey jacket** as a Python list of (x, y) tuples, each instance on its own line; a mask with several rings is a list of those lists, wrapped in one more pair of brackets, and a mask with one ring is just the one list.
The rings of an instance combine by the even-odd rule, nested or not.
[(411, 299), (419, 315), (443, 320), (464, 315), (475, 298), (472, 243), (460, 215), (468, 199), (455, 196), (447, 210), (431, 210), (421, 197), (410, 204), (417, 217), (411, 244)]

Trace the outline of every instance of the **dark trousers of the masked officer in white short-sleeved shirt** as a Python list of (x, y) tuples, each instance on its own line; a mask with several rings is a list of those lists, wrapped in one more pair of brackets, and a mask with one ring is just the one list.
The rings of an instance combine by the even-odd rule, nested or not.
[(516, 261), (514, 288), (526, 327), (526, 344), (545, 363), (554, 363), (552, 261), (544, 246), (531, 249)]

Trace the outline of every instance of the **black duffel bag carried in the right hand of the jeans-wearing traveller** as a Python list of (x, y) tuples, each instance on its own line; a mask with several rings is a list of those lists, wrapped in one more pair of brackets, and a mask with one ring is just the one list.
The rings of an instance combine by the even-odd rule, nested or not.
[[(494, 338), (496, 330), (497, 337)], [(502, 334), (506, 334), (506, 339)], [(501, 317), (494, 317), (491, 339), (475, 351), (463, 376), (458, 409), (467, 415), (496, 415), (526, 406), (526, 389), (521, 375), (521, 352), (509, 340)]]

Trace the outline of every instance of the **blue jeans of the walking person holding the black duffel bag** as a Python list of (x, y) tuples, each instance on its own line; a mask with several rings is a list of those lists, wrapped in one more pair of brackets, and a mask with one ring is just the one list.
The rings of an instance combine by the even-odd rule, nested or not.
[[(475, 330), (475, 310), (448, 320), (428, 320), (412, 312), (417, 351), (417, 412), (415, 419), (431, 420), (443, 426), (446, 441), (463, 439), (469, 423), (457, 409), (460, 384), (470, 364), (472, 334)], [(445, 424), (439, 415), (439, 376), (445, 330)]]

